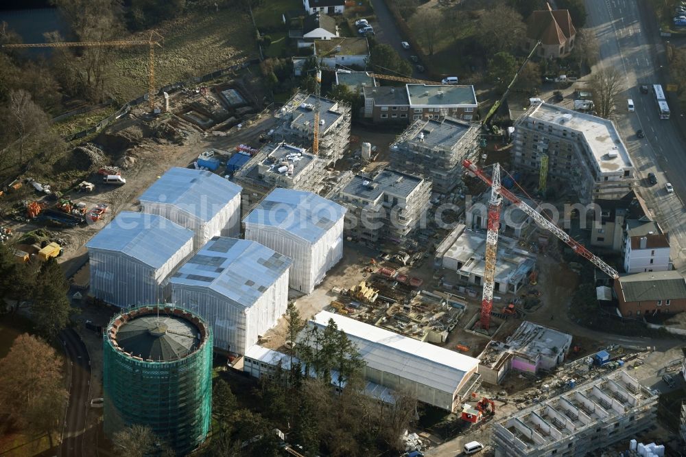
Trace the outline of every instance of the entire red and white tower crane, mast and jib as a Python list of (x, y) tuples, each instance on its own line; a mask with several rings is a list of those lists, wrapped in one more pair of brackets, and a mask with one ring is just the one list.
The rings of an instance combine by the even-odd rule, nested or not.
[(484, 174), (484, 171), (477, 167), (472, 161), (464, 160), (462, 161), (462, 166), (468, 169), (470, 172), (478, 176), (484, 183), (490, 186), (490, 202), (488, 204), (488, 235), (486, 235), (486, 271), (484, 272), (484, 297), (481, 303), (481, 327), (483, 329), (488, 329), (490, 324), (490, 310), (493, 309), (493, 288), (495, 286), (495, 261), (496, 261), (496, 249), (498, 244), (498, 227), (500, 223), (500, 207), (501, 207), (501, 196), (507, 198), (512, 202), (517, 208), (524, 211), (533, 220), (535, 220), (539, 226), (552, 232), (553, 235), (561, 239), (567, 246), (572, 248), (572, 250), (582, 257), (586, 257), (593, 265), (600, 268), (608, 274), (612, 279), (618, 279), (619, 274), (617, 270), (609, 266), (607, 263), (602, 261), (600, 257), (594, 255), (584, 245), (577, 242), (575, 239), (570, 237), (563, 229), (560, 229), (556, 224), (547, 220), (539, 211), (536, 211), (528, 204), (517, 198), (508, 189), (503, 189), (500, 185), (500, 167), (498, 163), (493, 166), (493, 177), (489, 178)]

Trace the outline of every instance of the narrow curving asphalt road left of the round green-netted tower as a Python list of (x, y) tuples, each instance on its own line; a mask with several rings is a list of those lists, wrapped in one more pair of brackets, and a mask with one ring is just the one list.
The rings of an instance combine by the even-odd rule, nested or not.
[(86, 346), (78, 333), (73, 329), (60, 332), (60, 340), (67, 353), (71, 370), (69, 386), (69, 406), (62, 432), (60, 457), (90, 456), (94, 452), (84, 450), (84, 433), (86, 432), (86, 412), (91, 384), (91, 360)]

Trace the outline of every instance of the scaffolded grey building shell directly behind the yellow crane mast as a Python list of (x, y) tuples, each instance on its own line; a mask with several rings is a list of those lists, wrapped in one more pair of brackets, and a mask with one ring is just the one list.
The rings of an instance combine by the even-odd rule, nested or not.
[[(317, 99), (315, 95), (298, 92), (274, 113), (281, 119), (281, 126), (274, 129), (276, 141), (287, 141), (303, 148), (311, 148), (314, 141), (314, 119)], [(319, 98), (319, 152), (318, 155), (332, 163), (338, 161), (350, 142), (350, 106)]]

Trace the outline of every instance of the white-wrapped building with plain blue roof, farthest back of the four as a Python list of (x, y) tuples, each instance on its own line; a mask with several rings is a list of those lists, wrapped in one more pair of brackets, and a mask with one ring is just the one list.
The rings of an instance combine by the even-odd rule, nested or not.
[(144, 213), (161, 215), (195, 232), (198, 250), (211, 237), (235, 237), (241, 231), (241, 187), (212, 172), (171, 168), (141, 200)]

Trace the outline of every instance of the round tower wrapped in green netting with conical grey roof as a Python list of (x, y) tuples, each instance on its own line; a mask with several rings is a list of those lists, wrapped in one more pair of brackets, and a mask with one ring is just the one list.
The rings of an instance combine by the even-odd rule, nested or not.
[(211, 327), (182, 308), (145, 305), (113, 317), (103, 338), (108, 438), (144, 425), (176, 455), (196, 449), (211, 422), (212, 344)]

